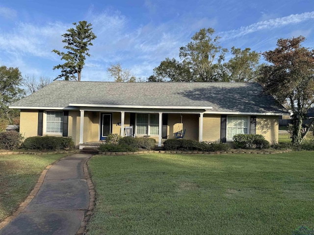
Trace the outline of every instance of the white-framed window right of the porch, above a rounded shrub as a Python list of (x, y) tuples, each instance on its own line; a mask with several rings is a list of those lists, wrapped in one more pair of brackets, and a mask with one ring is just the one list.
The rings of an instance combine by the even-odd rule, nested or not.
[(249, 117), (227, 117), (227, 140), (231, 141), (236, 134), (249, 134)]

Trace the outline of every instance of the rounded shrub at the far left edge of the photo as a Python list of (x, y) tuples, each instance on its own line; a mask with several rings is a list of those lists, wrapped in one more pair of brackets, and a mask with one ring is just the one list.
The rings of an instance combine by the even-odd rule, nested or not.
[(23, 136), (17, 131), (0, 132), (0, 149), (18, 149), (23, 139)]

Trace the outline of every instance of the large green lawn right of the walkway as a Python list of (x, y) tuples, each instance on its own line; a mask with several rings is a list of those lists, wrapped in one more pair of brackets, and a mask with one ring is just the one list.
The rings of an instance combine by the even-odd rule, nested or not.
[(314, 229), (314, 152), (146, 154), (89, 161), (88, 235), (291, 234)]

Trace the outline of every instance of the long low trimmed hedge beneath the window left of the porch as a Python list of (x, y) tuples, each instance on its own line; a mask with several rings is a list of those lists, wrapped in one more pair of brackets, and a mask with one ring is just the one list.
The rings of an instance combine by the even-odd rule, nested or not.
[(71, 137), (34, 136), (26, 138), (22, 148), (33, 150), (70, 150), (74, 148), (74, 145)]

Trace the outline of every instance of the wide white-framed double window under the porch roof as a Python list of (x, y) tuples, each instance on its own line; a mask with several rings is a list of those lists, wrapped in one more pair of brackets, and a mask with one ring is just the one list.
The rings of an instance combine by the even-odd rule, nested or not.
[(159, 135), (159, 115), (136, 114), (136, 135)]

